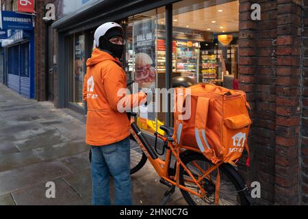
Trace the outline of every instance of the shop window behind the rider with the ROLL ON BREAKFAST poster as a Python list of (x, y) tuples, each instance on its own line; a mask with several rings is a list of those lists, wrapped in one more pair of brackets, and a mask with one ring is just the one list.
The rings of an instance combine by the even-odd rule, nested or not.
[[(127, 78), (138, 83), (138, 89), (153, 93), (153, 102), (141, 108), (138, 125), (151, 133), (164, 124), (162, 98), (155, 96), (155, 88), (164, 88), (166, 79), (165, 8), (157, 8), (126, 19), (127, 39), (124, 63)], [(160, 107), (159, 107), (160, 106)], [(155, 110), (155, 108), (160, 108)]]

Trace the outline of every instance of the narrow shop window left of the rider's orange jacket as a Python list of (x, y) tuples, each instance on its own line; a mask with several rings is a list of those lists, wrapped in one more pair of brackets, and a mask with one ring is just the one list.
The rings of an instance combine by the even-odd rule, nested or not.
[(85, 70), (85, 36), (75, 34), (73, 37), (73, 65), (70, 68), (70, 103), (82, 107), (83, 105), (83, 84)]

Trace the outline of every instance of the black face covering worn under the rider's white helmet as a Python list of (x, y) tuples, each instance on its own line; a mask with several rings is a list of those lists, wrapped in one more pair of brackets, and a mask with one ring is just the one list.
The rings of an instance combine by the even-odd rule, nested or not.
[(116, 36), (123, 37), (122, 31), (120, 31), (120, 29), (114, 28), (107, 31), (105, 36), (99, 38), (99, 49), (109, 51), (110, 53), (112, 53), (112, 55), (120, 59), (123, 55), (124, 45), (113, 44), (109, 41), (111, 38), (114, 38)]

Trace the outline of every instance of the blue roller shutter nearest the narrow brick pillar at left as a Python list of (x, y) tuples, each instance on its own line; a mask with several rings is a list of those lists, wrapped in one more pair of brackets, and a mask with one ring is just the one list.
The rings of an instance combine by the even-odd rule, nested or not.
[(21, 94), (30, 98), (29, 42), (21, 44)]

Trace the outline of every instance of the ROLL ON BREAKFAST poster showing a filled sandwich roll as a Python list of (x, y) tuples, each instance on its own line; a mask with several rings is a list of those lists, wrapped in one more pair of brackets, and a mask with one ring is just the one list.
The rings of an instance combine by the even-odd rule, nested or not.
[(135, 82), (139, 88), (155, 89), (155, 19), (133, 23), (133, 51), (135, 54)]

